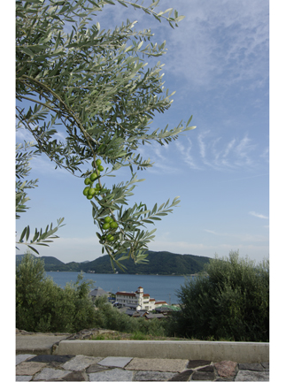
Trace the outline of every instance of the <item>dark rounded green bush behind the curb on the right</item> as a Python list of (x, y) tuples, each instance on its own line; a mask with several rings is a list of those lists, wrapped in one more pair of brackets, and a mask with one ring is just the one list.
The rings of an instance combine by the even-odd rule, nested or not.
[(182, 311), (169, 330), (198, 340), (269, 340), (269, 261), (256, 265), (237, 252), (217, 256), (178, 292)]

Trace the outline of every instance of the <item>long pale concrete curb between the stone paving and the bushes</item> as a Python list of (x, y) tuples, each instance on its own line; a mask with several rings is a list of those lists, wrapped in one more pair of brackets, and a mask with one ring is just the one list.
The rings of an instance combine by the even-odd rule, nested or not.
[(61, 340), (53, 354), (269, 362), (268, 342), (168, 340)]

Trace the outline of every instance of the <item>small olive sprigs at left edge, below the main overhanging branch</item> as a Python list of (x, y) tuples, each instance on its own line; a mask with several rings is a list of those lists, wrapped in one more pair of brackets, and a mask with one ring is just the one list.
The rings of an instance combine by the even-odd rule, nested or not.
[[(19, 219), (19, 213), (26, 212), (28, 209), (27, 207), (27, 201), (29, 200), (29, 197), (27, 197), (27, 188), (35, 188), (37, 187), (38, 180), (25, 180), (23, 179), (28, 176), (29, 172), (31, 171), (30, 167), (30, 161), (37, 153), (33, 150), (27, 151), (28, 149), (31, 149), (34, 147), (33, 142), (25, 142), (25, 144), (17, 144), (16, 145), (16, 219)], [(43, 245), (43, 246), (49, 246), (47, 242), (51, 242), (50, 239), (57, 239), (58, 236), (55, 235), (55, 233), (58, 231), (58, 228), (62, 226), (62, 223), (64, 221), (64, 218), (58, 219), (58, 225), (54, 228), (52, 228), (52, 223), (47, 225), (46, 229), (43, 231), (41, 228), (40, 231), (35, 229), (35, 234), (32, 240), (29, 240), (30, 237), (30, 227), (27, 225), (20, 237), (19, 241), (17, 241), (17, 244), (25, 244), (28, 248), (31, 248), (33, 251), (35, 251), (37, 254), (38, 251), (31, 246), (31, 244), (37, 244), (37, 245)], [(25, 239), (25, 241), (24, 241)], [(48, 240), (49, 239), (49, 240)]]

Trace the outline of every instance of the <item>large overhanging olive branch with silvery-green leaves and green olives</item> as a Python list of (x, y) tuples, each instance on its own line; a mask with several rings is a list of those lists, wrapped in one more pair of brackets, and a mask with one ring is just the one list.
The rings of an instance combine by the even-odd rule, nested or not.
[[(183, 19), (173, 8), (154, 11), (159, 0), (147, 7), (137, 0), (116, 2), (159, 21), (166, 19), (171, 27)], [(120, 261), (128, 256), (136, 263), (145, 261), (144, 249), (155, 232), (147, 231), (146, 225), (160, 220), (179, 202), (175, 197), (151, 210), (142, 202), (125, 207), (141, 181), (134, 167), (151, 166), (150, 159), (143, 159), (136, 150), (152, 141), (168, 144), (194, 126), (189, 118), (185, 126), (180, 122), (173, 129), (166, 126), (150, 132), (155, 113), (170, 108), (173, 93), (163, 86), (162, 65), (147, 68), (144, 58), (166, 53), (165, 42), (150, 42), (151, 30), (136, 31), (136, 22), (129, 20), (113, 30), (101, 30), (98, 13), (106, 4), (114, 3), (16, 1), (16, 115), (18, 127), (34, 137), (36, 154), (47, 155), (56, 168), (81, 179), (95, 174), (98, 192), (90, 202), (97, 237), (112, 266), (115, 263), (122, 269)], [(98, 169), (99, 158), (107, 165), (104, 172)], [(108, 187), (104, 177), (114, 176), (122, 166), (130, 168), (131, 179)], [(110, 231), (112, 241), (106, 240), (103, 229), (107, 216), (118, 224), (118, 230)], [(53, 230), (50, 226), (43, 234)], [(27, 227), (22, 236), (28, 238), (28, 233)], [(41, 233), (36, 231), (35, 237), (33, 243), (38, 244)], [(124, 255), (127, 249), (128, 256)]]

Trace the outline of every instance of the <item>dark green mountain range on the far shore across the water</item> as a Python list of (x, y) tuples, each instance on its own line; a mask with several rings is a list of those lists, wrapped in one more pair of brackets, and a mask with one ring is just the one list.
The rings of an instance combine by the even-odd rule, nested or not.
[[(210, 257), (196, 255), (179, 255), (166, 251), (148, 251), (148, 264), (135, 264), (132, 259), (122, 262), (127, 267), (126, 272), (116, 269), (118, 273), (128, 274), (158, 274), (158, 275), (188, 275), (204, 270), (204, 265)], [(23, 255), (16, 256), (16, 263)], [(98, 257), (91, 262), (63, 263), (53, 256), (42, 256), (45, 271), (92, 271), (95, 273), (113, 273), (108, 255)]]

